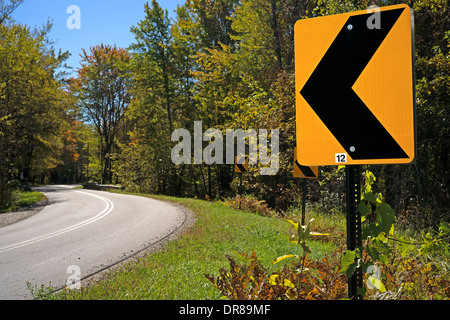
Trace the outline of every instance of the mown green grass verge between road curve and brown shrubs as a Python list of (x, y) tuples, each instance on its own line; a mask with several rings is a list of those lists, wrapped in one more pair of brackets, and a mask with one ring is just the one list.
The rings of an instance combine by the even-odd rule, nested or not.
[[(218, 275), (228, 267), (226, 255), (254, 250), (269, 270), (273, 259), (285, 254), (302, 254), (300, 246), (289, 241), (292, 231), (279, 218), (232, 209), (220, 202), (157, 197), (175, 201), (191, 209), (197, 222), (183, 236), (168, 243), (161, 251), (128, 263), (108, 278), (82, 288), (64, 291), (52, 299), (219, 299), (204, 274)], [(337, 249), (331, 242), (312, 241), (310, 257), (320, 258)]]

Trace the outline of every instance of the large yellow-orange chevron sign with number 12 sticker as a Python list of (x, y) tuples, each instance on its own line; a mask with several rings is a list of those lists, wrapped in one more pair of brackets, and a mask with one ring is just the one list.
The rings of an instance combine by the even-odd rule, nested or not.
[(412, 10), (295, 24), (296, 140), (305, 166), (410, 163), (416, 150)]

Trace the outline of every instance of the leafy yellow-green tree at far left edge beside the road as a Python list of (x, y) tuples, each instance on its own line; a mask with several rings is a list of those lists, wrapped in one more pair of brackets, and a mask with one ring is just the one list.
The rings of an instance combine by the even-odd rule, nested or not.
[(66, 93), (48, 24), (0, 25), (0, 206), (20, 181), (36, 181), (59, 163)]

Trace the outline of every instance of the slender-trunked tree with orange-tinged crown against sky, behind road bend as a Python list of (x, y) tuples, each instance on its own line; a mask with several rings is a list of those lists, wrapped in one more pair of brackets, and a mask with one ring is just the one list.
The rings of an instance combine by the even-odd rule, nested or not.
[(112, 181), (111, 156), (131, 101), (130, 59), (127, 50), (115, 46), (97, 45), (89, 53), (83, 49), (78, 77), (71, 80), (71, 92), (100, 140), (102, 183)]

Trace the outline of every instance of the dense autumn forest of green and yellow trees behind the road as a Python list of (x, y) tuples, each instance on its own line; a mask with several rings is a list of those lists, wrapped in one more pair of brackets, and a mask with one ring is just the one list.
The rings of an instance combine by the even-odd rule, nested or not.
[[(278, 212), (298, 206), (295, 22), (406, 3), (415, 25), (415, 161), (364, 168), (404, 226), (450, 220), (447, 1), (187, 0), (171, 19), (152, 0), (129, 30), (130, 47), (83, 48), (75, 76), (65, 66), (70, 52), (56, 52), (48, 37), (50, 23), (33, 29), (10, 18), (21, 2), (0, 7), (0, 207), (24, 184), (89, 181), (208, 200), (242, 195)], [(261, 175), (259, 163), (244, 174), (226, 162), (175, 164), (172, 133), (193, 135), (196, 121), (224, 137), (227, 129), (278, 129), (277, 173)], [(342, 168), (320, 167), (308, 203), (342, 210), (344, 180)]]

